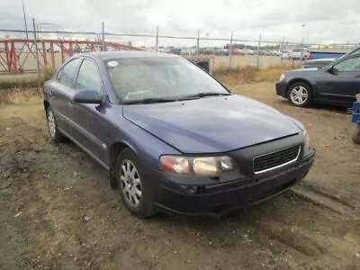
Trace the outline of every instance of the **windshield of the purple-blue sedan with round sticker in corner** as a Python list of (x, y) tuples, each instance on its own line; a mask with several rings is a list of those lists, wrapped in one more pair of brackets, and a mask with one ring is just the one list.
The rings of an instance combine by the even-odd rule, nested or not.
[(215, 79), (183, 58), (120, 58), (107, 61), (106, 67), (121, 103), (229, 94)]

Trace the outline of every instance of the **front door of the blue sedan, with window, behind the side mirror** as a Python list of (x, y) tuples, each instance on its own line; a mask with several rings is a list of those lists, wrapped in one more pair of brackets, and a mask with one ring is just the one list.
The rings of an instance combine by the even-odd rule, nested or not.
[(76, 126), (75, 138), (99, 162), (107, 163), (107, 130), (104, 121), (109, 103), (106, 102), (103, 79), (97, 64), (91, 58), (84, 58), (77, 78), (76, 90), (92, 90), (103, 96), (102, 104), (71, 103), (72, 120)]

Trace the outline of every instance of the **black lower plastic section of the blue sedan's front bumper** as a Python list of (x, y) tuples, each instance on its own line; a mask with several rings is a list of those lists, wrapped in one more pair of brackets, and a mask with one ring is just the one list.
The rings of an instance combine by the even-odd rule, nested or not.
[[(219, 217), (229, 211), (264, 202), (284, 193), (308, 174), (314, 155), (302, 159), (301, 164), (288, 167), (272, 175), (266, 175), (258, 182), (229, 188), (217, 193), (179, 193), (163, 185), (157, 190), (154, 203), (159, 211), (183, 215), (207, 215)], [(241, 182), (240, 180), (238, 182)], [(236, 186), (236, 185), (233, 185)]]

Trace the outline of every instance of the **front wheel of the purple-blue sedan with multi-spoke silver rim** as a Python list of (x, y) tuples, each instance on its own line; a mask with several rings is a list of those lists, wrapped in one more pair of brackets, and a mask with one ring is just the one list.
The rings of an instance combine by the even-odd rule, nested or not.
[(139, 158), (130, 148), (123, 149), (117, 158), (116, 180), (121, 201), (131, 214), (148, 218), (156, 213), (151, 185)]

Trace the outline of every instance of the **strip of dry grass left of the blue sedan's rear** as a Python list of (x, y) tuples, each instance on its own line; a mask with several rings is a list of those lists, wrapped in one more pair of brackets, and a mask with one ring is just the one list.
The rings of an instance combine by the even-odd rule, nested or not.
[(41, 102), (40, 88), (14, 89), (0, 92), (0, 105), (36, 104)]

